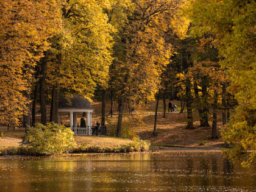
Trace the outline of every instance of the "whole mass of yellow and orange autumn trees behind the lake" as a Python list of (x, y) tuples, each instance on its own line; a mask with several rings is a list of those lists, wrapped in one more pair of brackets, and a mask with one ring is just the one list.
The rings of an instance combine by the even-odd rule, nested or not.
[(41, 123), (48, 104), (58, 123), (59, 98), (101, 93), (101, 124), (109, 96), (121, 137), (124, 107), (177, 99), (187, 129), (193, 110), (202, 127), (212, 113), (213, 139), (221, 110), (227, 156), (248, 165), (256, 156), (255, 8), (238, 0), (0, 0), (0, 123), (34, 126), (37, 102)]

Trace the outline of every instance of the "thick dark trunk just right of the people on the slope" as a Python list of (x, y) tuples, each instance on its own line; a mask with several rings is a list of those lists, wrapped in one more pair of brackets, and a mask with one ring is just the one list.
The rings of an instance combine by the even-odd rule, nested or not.
[(187, 79), (186, 84), (186, 99), (187, 99), (187, 118), (188, 124), (186, 129), (194, 129), (193, 126), (193, 110), (192, 110), (192, 96), (191, 96), (191, 82)]

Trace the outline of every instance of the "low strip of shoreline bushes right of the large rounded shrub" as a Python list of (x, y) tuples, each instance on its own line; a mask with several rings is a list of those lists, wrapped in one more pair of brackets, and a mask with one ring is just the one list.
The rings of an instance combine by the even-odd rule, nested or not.
[(88, 146), (87, 143), (82, 143), (79, 147), (74, 148), (71, 153), (87, 153), (87, 152), (135, 152), (135, 151), (148, 151), (151, 143), (139, 138), (134, 138), (131, 143), (113, 146), (113, 147), (100, 147)]

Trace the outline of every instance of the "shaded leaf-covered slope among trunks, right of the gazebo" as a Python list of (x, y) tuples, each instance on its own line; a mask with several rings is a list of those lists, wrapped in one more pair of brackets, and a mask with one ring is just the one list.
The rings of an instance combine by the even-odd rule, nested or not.
[[(180, 102), (174, 101), (179, 110)], [(167, 104), (167, 103), (166, 103)], [(101, 111), (101, 105), (97, 103), (94, 105), (96, 111)], [(123, 131), (134, 132), (133, 135), (138, 135), (142, 140), (151, 141), (152, 145), (157, 146), (186, 146), (199, 148), (221, 148), (224, 141), (220, 136), (220, 129), (222, 127), (221, 111), (218, 112), (217, 132), (219, 139), (212, 140), (212, 115), (209, 115), (208, 121), (210, 127), (200, 127), (199, 116), (196, 110), (193, 112), (194, 127), (193, 130), (185, 129), (187, 126), (187, 112), (170, 112), (166, 113), (166, 118), (163, 118), (163, 102), (159, 103), (159, 110), (157, 115), (157, 136), (152, 135), (154, 129), (154, 108), (155, 102), (150, 102), (148, 108), (140, 108), (133, 112), (132, 115), (124, 115), (123, 117)], [(108, 112), (107, 108), (107, 112)], [(117, 113), (117, 112), (115, 112)], [(98, 121), (99, 116), (93, 116), (93, 121)], [(115, 135), (116, 124), (118, 116), (107, 115), (106, 118), (108, 135)]]

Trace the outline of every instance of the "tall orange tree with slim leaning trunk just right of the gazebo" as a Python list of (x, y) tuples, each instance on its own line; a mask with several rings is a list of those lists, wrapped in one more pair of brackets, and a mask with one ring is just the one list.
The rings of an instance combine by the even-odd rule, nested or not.
[(171, 46), (164, 36), (174, 24), (166, 19), (175, 20), (180, 4), (180, 1), (167, 0), (132, 1), (127, 24), (114, 46), (116, 60), (112, 79), (118, 98), (118, 137), (125, 102), (141, 105), (146, 100), (154, 100), (163, 66), (168, 64), (171, 55)]

